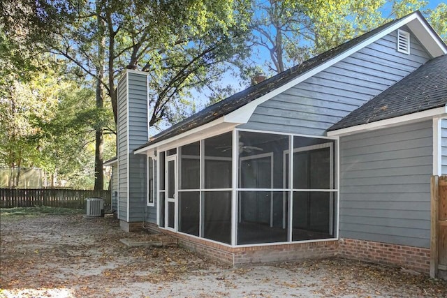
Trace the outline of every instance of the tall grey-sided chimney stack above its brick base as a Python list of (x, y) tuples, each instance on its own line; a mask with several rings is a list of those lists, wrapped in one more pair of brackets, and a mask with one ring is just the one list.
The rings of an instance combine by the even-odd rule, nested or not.
[(155, 208), (147, 207), (146, 156), (133, 152), (148, 140), (147, 76), (126, 75), (118, 84), (119, 219), (155, 222)]

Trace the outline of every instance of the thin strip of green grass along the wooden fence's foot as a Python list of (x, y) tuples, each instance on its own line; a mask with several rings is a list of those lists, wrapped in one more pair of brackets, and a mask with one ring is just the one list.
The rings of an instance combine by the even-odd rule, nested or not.
[(1, 217), (3, 216), (44, 216), (51, 215), (71, 215), (71, 214), (83, 214), (84, 209), (71, 209), (61, 207), (16, 207), (16, 208), (0, 208)]

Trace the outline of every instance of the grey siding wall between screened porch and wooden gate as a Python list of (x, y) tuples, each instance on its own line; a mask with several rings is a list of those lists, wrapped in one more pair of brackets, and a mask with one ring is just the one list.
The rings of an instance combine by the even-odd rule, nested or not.
[(432, 121), (340, 138), (339, 235), (430, 247)]

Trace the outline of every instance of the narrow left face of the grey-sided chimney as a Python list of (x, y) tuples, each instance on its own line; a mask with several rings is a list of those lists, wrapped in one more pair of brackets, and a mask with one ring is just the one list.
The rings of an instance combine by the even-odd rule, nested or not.
[(127, 221), (127, 82), (124, 77), (118, 82), (118, 218)]

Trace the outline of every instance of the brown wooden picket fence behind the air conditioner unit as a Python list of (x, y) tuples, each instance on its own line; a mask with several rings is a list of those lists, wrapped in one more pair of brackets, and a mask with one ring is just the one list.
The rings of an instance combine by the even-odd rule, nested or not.
[(0, 188), (1, 208), (34, 206), (85, 208), (86, 198), (103, 198), (105, 200), (105, 210), (110, 209), (110, 191), (85, 191), (59, 188)]

